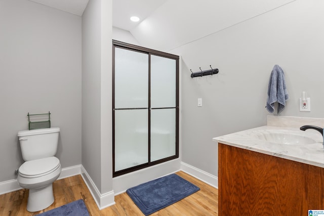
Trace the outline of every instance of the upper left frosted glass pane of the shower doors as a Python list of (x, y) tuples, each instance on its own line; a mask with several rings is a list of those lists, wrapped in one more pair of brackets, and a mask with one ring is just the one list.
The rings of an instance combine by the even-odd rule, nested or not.
[(147, 108), (148, 54), (115, 48), (115, 108)]

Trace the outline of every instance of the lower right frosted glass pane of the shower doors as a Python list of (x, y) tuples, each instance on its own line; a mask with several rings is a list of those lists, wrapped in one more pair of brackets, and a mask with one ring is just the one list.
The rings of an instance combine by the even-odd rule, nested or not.
[(151, 161), (176, 154), (176, 109), (151, 110)]

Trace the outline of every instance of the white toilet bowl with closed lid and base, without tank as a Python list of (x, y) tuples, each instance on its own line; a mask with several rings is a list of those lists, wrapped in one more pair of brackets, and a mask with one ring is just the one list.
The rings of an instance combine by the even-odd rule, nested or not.
[(54, 202), (52, 183), (60, 173), (61, 164), (56, 157), (26, 161), (20, 166), (18, 184), (29, 189), (27, 211), (39, 211)]

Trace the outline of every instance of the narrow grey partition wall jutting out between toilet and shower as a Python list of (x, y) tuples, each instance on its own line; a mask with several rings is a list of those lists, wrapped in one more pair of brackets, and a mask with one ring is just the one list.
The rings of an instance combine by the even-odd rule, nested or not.
[(111, 1), (90, 0), (82, 17), (82, 165), (99, 207), (114, 202), (111, 10)]

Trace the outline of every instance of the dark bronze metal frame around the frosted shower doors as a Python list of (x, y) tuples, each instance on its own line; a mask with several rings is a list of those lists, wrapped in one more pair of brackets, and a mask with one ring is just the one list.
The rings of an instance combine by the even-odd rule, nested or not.
[[(132, 166), (126, 169), (115, 171), (115, 48), (126, 49), (134, 52), (140, 52), (148, 54), (148, 162), (136, 166)], [(176, 60), (176, 106), (175, 107), (166, 107), (166, 108), (151, 108), (150, 106), (150, 90), (151, 90), (151, 55), (160, 56), (164, 58), (174, 59)], [(162, 158), (159, 160), (151, 161), (151, 142), (150, 142), (150, 110), (153, 109), (170, 109), (175, 108), (176, 111), (176, 143), (175, 143), (175, 155)], [(136, 109), (136, 108), (135, 108)], [(179, 56), (156, 51), (132, 44), (127, 44), (125, 42), (112, 40), (112, 175), (113, 177), (121, 176), (127, 174), (129, 172), (133, 172), (139, 169), (143, 169), (149, 166), (153, 166), (159, 163), (163, 163), (169, 160), (173, 160), (179, 158)]]

